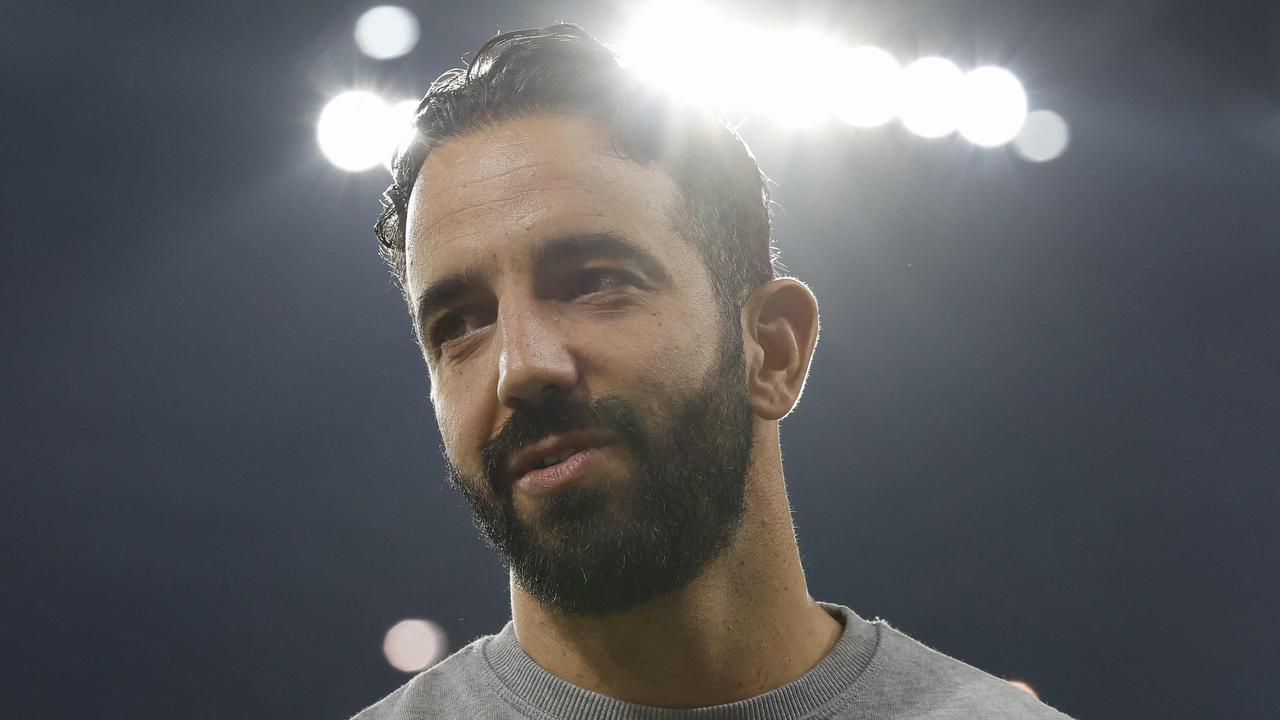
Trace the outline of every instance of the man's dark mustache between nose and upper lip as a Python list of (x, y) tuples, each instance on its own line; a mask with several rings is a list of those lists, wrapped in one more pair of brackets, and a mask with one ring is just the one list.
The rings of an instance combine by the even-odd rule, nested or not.
[(513, 455), (547, 436), (593, 427), (612, 430), (634, 450), (648, 447), (639, 413), (621, 397), (602, 396), (588, 401), (582, 396), (552, 392), (538, 405), (518, 405), (480, 448), (485, 479), (495, 493), (500, 493), (506, 489), (504, 470)]

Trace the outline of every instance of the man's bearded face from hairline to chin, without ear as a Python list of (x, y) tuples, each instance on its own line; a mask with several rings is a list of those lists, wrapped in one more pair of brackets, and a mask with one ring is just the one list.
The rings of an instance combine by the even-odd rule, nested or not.
[(449, 482), (518, 585), (567, 612), (685, 587), (744, 512), (741, 328), (672, 222), (678, 197), (566, 114), (449, 140), (411, 197)]

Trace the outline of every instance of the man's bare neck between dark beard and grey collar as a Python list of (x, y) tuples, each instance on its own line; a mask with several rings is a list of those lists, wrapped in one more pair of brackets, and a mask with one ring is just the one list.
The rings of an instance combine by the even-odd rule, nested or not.
[(575, 685), (662, 707), (754, 697), (817, 665), (840, 639), (841, 625), (809, 597), (776, 424), (772, 432), (772, 443), (756, 446), (771, 451), (753, 462), (733, 543), (684, 589), (622, 615), (579, 618), (512, 582), (525, 652)]

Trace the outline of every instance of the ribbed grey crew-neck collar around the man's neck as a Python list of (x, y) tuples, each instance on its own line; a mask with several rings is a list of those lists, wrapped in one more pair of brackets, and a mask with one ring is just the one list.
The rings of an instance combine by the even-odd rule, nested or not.
[(667, 708), (623, 702), (595, 693), (550, 674), (534, 662), (516, 639), (508, 621), (484, 646), (489, 669), (506, 688), (552, 717), (582, 720), (675, 720), (736, 717), (803, 717), (849, 689), (863, 674), (879, 646), (881, 625), (868, 623), (844, 605), (818, 602), (845, 630), (840, 642), (804, 675), (755, 697), (698, 708)]

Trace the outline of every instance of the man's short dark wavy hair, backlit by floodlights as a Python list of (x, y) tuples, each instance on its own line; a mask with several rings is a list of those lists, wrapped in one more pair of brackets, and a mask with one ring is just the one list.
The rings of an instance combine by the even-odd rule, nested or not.
[(675, 224), (698, 249), (726, 309), (736, 311), (753, 288), (776, 277), (768, 178), (746, 143), (718, 114), (641, 82), (582, 28), (557, 24), (490, 38), (468, 67), (436, 78), (419, 104), (416, 132), (392, 164), (393, 182), (374, 227), (411, 315), (404, 225), (422, 161), (451, 137), (554, 111), (608, 122), (620, 154), (657, 163), (672, 177), (684, 195)]

